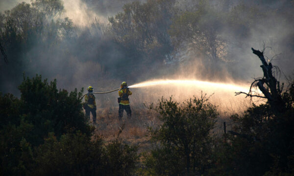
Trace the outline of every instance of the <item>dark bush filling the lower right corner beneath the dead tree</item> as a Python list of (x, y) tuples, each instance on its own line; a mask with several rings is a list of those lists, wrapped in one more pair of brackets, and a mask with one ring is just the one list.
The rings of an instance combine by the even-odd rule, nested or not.
[(233, 135), (214, 150), (212, 176), (290, 176), (294, 174), (294, 84), (281, 93), (283, 111), (270, 103), (233, 115)]

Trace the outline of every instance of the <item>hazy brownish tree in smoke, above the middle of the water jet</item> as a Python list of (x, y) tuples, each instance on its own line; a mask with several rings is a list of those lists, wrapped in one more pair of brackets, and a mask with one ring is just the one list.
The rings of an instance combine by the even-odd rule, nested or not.
[(196, 48), (210, 62), (226, 60), (226, 41), (221, 35), (221, 13), (215, 11), (208, 1), (196, 4), (196, 11), (187, 11), (176, 17), (169, 31), (178, 49), (180, 45)]

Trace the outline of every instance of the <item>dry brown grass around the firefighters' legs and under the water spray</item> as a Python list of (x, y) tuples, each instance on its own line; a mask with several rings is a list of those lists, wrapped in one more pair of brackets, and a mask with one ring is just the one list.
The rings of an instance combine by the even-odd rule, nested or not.
[[(103, 103), (100, 105), (97, 104), (100, 108), (97, 109), (98, 125), (96, 126), (95, 134), (102, 136), (105, 141), (108, 142), (115, 139), (123, 128), (119, 136), (123, 143), (139, 145), (139, 151), (150, 149), (151, 143), (149, 141), (147, 127), (157, 127), (161, 122), (156, 117), (156, 113), (152, 110), (148, 110), (144, 103), (146, 105), (149, 105), (151, 102), (156, 104), (158, 99), (162, 96), (160, 93), (142, 94), (142, 92), (134, 90), (133, 95), (130, 97), (132, 117), (130, 119), (127, 118), (126, 112), (124, 111), (122, 121), (119, 121), (118, 118), (118, 104), (113, 101), (116, 99), (115, 95), (112, 95), (112, 99), (110, 98), (111, 96), (107, 97), (107, 99), (104, 99), (104, 96), (97, 96), (98, 101)], [(165, 98), (168, 98), (169, 91), (166, 93), (167, 95)], [(156, 97), (156, 99), (154, 97)], [(180, 93), (172, 96), (172, 98), (178, 102), (183, 102), (187, 99), (187, 95)], [(222, 98), (216, 96), (210, 98), (210, 102), (218, 106), (220, 112), (215, 129), (212, 133), (213, 135), (221, 135), (223, 133), (223, 122), (226, 122), (226, 130), (230, 130), (232, 121), (229, 117), (235, 113), (242, 113), (251, 104), (248, 99), (239, 97), (236, 99), (237, 101), (230, 99), (226, 99), (225, 101), (222, 100)], [(90, 121), (92, 122), (92, 115)]]

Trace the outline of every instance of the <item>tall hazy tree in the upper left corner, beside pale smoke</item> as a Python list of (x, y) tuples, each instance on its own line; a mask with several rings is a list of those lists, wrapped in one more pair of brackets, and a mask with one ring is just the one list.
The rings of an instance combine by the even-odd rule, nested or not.
[[(0, 80), (7, 83), (1, 85), (1, 90), (15, 88), (17, 85), (12, 80), (21, 83), (20, 75), (24, 71), (30, 73), (30, 63), (51, 56), (56, 44), (73, 35), (73, 22), (69, 18), (62, 19), (63, 12), (61, 0), (33, 0), (19, 3), (0, 15), (0, 41), (10, 58), (0, 69)], [(32, 52), (36, 46), (47, 50)], [(13, 86), (7, 88), (8, 83)]]

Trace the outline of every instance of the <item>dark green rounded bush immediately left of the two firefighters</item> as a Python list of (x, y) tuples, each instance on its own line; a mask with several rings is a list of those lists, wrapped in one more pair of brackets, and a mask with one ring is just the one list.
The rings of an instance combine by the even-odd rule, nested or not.
[(32, 144), (43, 143), (49, 132), (54, 132), (57, 137), (76, 131), (91, 134), (82, 111), (83, 90), (77, 92), (75, 89), (70, 93), (64, 89), (58, 91), (56, 80), (49, 84), (38, 75), (32, 79), (24, 78), (19, 89), (23, 102), (20, 107), (22, 115), (35, 127), (31, 132)]

